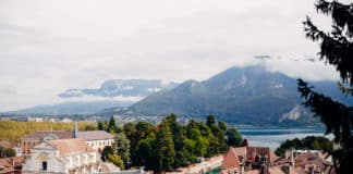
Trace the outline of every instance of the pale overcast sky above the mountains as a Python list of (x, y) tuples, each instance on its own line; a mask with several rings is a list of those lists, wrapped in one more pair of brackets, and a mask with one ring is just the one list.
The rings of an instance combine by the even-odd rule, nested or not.
[(2, 0), (0, 112), (64, 102), (58, 94), (107, 79), (203, 80), (255, 63), (293, 77), (337, 80), (334, 69), (318, 61), (318, 45), (304, 36), (306, 15), (330, 26), (314, 2)]

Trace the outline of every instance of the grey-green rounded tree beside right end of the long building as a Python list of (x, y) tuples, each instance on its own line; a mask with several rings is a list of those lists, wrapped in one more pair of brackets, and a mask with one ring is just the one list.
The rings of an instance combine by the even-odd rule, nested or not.
[(114, 149), (119, 157), (124, 161), (124, 164), (130, 163), (130, 140), (125, 134), (119, 133), (115, 135)]

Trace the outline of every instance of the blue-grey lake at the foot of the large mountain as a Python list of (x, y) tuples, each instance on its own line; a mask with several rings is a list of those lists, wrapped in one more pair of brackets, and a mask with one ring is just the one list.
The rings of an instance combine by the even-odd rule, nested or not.
[[(243, 138), (247, 138), (249, 146), (254, 147), (269, 147), (271, 150), (276, 150), (281, 142), (287, 139), (304, 138), (306, 136), (324, 136), (322, 129), (309, 129), (309, 128), (240, 128), (239, 129)], [(333, 136), (327, 135), (326, 137), (332, 139)]]

